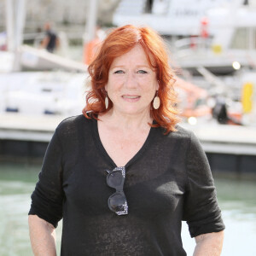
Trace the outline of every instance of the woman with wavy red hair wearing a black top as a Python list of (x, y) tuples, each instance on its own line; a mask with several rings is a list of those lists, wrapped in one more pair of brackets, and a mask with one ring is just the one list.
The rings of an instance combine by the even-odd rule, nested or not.
[(165, 44), (149, 28), (111, 32), (89, 66), (84, 115), (57, 127), (29, 212), (35, 255), (220, 255), (224, 224), (200, 143), (177, 125)]

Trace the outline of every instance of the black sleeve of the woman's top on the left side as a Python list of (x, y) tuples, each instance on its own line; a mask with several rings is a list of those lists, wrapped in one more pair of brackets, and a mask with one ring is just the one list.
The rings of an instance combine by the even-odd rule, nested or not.
[(38, 183), (32, 193), (32, 205), (29, 215), (38, 215), (55, 228), (62, 218), (62, 167), (61, 142), (57, 130), (53, 135), (46, 153)]

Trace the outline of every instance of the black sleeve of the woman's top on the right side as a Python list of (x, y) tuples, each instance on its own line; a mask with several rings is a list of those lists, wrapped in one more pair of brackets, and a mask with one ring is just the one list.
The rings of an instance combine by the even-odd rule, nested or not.
[(186, 161), (188, 188), (185, 193), (183, 220), (189, 225), (190, 236), (224, 230), (212, 172), (194, 133), (191, 133)]

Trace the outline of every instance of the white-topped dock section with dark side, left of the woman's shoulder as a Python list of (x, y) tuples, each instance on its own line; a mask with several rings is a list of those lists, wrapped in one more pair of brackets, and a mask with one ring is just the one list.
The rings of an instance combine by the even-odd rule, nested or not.
[(0, 160), (42, 162), (55, 128), (65, 116), (0, 114)]

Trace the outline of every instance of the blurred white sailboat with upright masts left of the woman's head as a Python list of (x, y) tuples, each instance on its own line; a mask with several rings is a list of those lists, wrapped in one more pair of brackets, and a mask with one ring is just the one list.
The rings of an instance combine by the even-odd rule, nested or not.
[[(90, 81), (87, 65), (23, 45), (26, 0), (6, 0), (7, 50), (0, 50), (0, 114), (81, 113)], [(93, 37), (96, 1), (90, 1), (87, 39)], [(15, 117), (14, 117), (15, 118)]]

